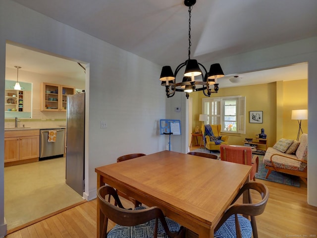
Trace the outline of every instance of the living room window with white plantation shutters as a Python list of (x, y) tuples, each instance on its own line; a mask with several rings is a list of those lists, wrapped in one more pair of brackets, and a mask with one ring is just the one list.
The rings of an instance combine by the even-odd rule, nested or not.
[(203, 114), (208, 124), (221, 124), (221, 131), (245, 134), (245, 97), (204, 98)]

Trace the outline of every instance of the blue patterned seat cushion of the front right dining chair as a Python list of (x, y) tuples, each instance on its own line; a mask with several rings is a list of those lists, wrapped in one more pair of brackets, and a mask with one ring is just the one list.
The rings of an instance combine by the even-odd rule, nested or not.
[[(241, 216), (238, 215), (239, 225), (241, 229), (241, 235), (243, 238), (251, 238), (252, 237), (252, 226), (251, 222)], [(237, 237), (236, 235), (236, 224), (234, 215), (230, 216), (222, 226), (213, 234), (214, 238), (231, 238)]]

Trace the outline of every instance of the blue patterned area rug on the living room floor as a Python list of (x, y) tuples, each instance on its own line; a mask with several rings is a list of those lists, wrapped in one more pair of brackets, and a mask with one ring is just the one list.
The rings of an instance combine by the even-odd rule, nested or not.
[[(210, 153), (207, 149), (196, 149), (193, 150), (195, 152), (202, 152), (202, 153)], [(211, 154), (215, 154), (218, 157), (220, 156), (219, 151), (211, 151)], [(282, 184), (287, 184), (295, 187), (300, 187), (300, 178), (293, 175), (287, 175), (283, 173), (278, 173), (276, 171), (272, 171), (267, 179), (265, 179), (267, 170), (263, 164), (263, 155), (259, 155), (259, 171), (256, 173), (256, 179), (263, 179), (271, 182), (278, 182)]]

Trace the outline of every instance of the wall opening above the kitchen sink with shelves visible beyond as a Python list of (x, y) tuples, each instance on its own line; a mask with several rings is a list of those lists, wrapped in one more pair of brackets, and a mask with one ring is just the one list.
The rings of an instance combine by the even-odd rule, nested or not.
[(14, 90), (14, 84), (5, 80), (4, 117), (31, 118), (32, 84), (20, 82), (21, 90)]

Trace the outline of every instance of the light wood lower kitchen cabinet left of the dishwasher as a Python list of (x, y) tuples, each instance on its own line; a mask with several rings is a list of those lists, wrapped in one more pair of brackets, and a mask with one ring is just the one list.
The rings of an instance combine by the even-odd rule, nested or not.
[(4, 131), (4, 166), (38, 161), (39, 157), (40, 130)]

